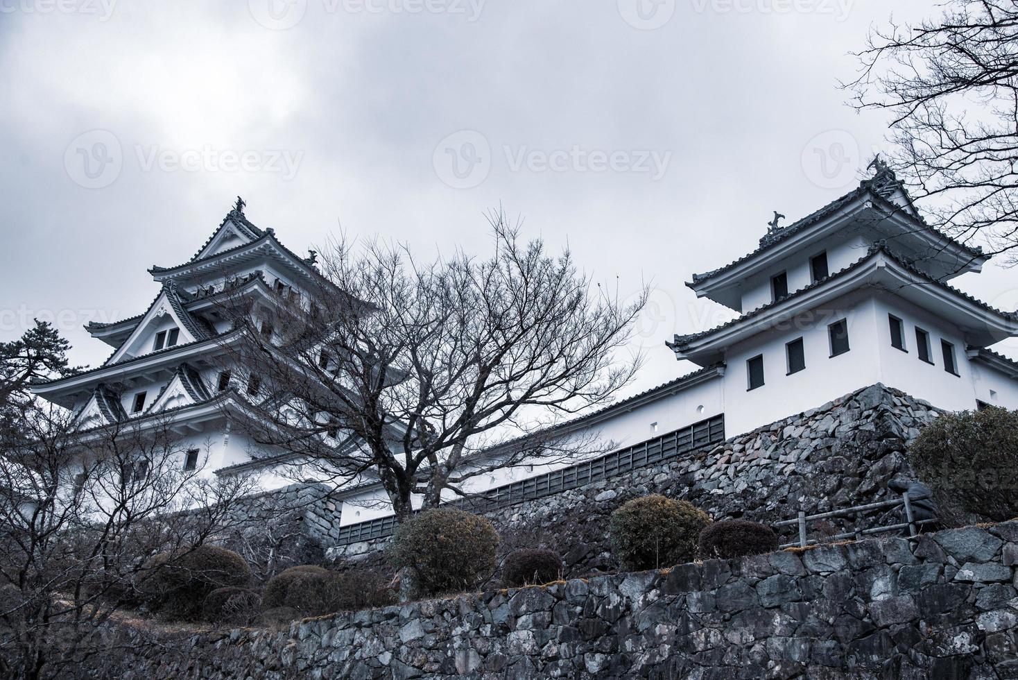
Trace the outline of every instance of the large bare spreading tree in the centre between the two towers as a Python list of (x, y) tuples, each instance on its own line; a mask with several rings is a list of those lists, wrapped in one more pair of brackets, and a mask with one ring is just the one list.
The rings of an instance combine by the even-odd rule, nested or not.
[[(248, 428), (300, 474), (381, 481), (399, 520), (472, 477), (592, 452), (550, 430), (609, 402), (641, 362), (628, 353), (631, 303), (595, 285), (568, 251), (521, 242), (489, 216), (494, 252), (429, 263), (404, 246), (332, 243), (321, 280), (275, 302), (234, 300), (249, 370)], [(446, 493), (443, 499), (443, 493)]]

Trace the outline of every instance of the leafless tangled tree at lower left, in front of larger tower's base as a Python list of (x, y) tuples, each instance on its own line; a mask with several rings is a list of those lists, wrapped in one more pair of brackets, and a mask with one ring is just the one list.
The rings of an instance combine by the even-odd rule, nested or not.
[(242, 521), (249, 481), (185, 471), (169, 420), (80, 431), (31, 405), (0, 445), (4, 677), (57, 677), (110, 653), (111, 617), (151, 574), (147, 558), (179, 559)]

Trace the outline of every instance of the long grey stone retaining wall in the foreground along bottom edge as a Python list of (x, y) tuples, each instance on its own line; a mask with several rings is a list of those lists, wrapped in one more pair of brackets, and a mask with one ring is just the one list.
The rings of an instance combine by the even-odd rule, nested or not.
[(949, 529), (136, 642), (79, 677), (1018, 678), (1016, 563), (1018, 522)]

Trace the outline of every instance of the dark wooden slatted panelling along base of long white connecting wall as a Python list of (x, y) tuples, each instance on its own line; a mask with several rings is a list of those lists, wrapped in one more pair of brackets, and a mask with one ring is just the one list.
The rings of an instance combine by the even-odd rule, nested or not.
[[(490, 489), (447, 505), (471, 512), (490, 512), (577, 489), (616, 474), (647, 467), (725, 441), (725, 414), (648, 439), (582, 463)], [(379, 517), (339, 529), (337, 545), (385, 539), (396, 527), (395, 517)]]

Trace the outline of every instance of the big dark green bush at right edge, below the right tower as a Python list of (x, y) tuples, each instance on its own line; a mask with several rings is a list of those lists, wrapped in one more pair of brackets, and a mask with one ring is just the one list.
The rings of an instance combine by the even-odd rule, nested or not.
[(996, 521), (1018, 515), (1018, 411), (940, 415), (909, 445), (908, 458), (919, 478), (963, 510)]

